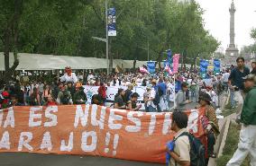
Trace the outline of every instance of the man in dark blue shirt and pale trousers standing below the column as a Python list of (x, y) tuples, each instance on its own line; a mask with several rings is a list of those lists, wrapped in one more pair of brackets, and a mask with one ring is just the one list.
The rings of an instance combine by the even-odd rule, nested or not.
[(237, 121), (240, 120), (240, 114), (242, 111), (242, 102), (244, 99), (244, 85), (242, 77), (245, 77), (250, 73), (249, 68), (244, 66), (244, 58), (237, 57), (236, 59), (237, 67), (233, 68), (230, 76), (229, 76), (229, 84), (231, 91), (234, 91), (234, 100), (237, 102), (237, 111), (236, 118)]

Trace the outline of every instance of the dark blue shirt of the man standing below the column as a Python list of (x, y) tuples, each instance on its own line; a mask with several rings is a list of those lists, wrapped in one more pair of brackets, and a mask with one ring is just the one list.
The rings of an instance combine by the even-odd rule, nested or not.
[(233, 68), (231, 74), (229, 75), (229, 80), (231, 80), (231, 84), (237, 86), (240, 90), (244, 89), (242, 77), (250, 74), (250, 70), (247, 67), (243, 67), (243, 72), (241, 72), (237, 67)]

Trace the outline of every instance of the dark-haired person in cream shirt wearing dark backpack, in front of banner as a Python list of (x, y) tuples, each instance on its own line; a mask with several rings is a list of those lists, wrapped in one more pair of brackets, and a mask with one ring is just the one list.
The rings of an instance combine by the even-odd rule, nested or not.
[(187, 114), (175, 110), (170, 129), (176, 134), (167, 144), (166, 162), (169, 166), (206, 166), (205, 146), (187, 130)]

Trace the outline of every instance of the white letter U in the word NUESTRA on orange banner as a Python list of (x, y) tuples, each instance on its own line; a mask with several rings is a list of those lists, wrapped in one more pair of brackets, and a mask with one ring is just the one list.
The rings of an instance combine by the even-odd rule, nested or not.
[(92, 106), (91, 111), (91, 124), (93, 126), (99, 126), (100, 129), (104, 129), (104, 120), (105, 120), (105, 107), (101, 108), (100, 118), (99, 120), (96, 119), (96, 112), (97, 112), (97, 105)]

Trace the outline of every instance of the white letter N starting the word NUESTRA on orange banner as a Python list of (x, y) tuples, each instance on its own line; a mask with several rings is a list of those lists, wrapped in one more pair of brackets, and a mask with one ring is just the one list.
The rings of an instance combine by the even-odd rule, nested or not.
[(74, 127), (75, 127), (75, 128), (78, 127), (79, 119), (81, 119), (81, 125), (82, 125), (82, 127), (86, 127), (86, 125), (87, 125), (87, 120), (88, 120), (88, 114), (89, 114), (89, 108), (90, 108), (90, 105), (87, 104), (87, 105), (86, 105), (85, 112), (84, 112), (81, 105), (78, 105), (78, 106), (77, 106), (77, 109), (76, 109), (76, 118), (75, 118), (75, 122), (74, 122)]

